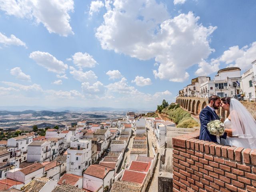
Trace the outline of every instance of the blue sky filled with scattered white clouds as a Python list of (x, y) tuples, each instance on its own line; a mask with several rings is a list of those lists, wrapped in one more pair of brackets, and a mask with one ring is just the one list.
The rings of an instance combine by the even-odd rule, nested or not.
[(0, 0), (0, 106), (155, 109), (256, 59), (256, 1)]

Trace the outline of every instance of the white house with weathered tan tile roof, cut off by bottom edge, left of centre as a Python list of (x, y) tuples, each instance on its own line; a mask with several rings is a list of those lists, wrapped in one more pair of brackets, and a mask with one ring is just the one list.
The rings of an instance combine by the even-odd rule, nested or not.
[(46, 177), (34, 178), (21, 188), (23, 192), (51, 192), (57, 186), (57, 181)]

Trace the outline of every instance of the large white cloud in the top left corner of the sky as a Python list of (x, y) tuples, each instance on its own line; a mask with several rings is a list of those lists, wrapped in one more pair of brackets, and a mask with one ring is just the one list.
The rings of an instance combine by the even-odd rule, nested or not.
[(8, 15), (42, 23), (50, 33), (74, 34), (69, 24), (73, 0), (0, 0), (0, 9)]

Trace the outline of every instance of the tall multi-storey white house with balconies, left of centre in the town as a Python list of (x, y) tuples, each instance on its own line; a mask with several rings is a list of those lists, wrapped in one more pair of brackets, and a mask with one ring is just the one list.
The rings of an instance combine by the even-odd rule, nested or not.
[(82, 176), (82, 172), (91, 164), (92, 140), (79, 139), (70, 142), (67, 154), (67, 173)]

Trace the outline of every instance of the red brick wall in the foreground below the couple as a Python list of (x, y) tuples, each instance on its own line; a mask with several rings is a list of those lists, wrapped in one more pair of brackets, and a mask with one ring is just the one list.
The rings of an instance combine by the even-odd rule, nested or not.
[(256, 150), (198, 137), (197, 131), (172, 139), (174, 192), (256, 192)]

